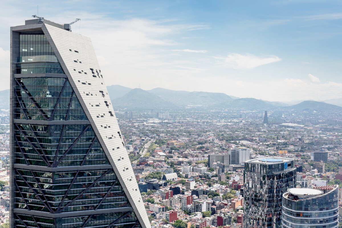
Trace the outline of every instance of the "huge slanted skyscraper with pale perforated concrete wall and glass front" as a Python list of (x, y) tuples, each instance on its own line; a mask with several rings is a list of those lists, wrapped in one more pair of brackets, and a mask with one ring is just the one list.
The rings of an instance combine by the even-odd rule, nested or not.
[(149, 228), (91, 40), (11, 27), (11, 228)]

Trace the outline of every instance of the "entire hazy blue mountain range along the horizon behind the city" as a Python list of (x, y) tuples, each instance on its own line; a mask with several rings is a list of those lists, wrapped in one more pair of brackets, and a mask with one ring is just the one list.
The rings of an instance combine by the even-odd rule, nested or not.
[[(342, 98), (324, 102), (313, 100), (298, 101), (295, 105), (269, 102), (255, 98), (239, 98), (224, 93), (176, 91), (163, 88), (152, 90), (131, 89), (121, 85), (107, 86), (108, 95), (114, 108), (137, 109), (184, 109), (189, 107), (231, 108), (231, 109), (268, 109), (282, 108), (304, 111), (342, 111)], [(0, 108), (10, 106), (10, 90), (0, 91)]]

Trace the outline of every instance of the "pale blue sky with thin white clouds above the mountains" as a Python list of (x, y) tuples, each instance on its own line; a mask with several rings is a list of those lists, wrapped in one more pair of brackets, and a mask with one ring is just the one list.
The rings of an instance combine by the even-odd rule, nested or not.
[[(107, 85), (222, 92), (282, 101), (342, 98), (341, 1), (19, 1), (9, 27), (37, 14), (90, 37)], [(0, 89), (9, 88), (8, 74)]]

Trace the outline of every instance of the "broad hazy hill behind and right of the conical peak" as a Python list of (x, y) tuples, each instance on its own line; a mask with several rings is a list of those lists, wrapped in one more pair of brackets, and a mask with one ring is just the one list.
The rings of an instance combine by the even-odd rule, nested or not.
[(221, 103), (231, 102), (233, 99), (224, 93), (175, 91), (163, 88), (155, 88), (148, 92), (153, 93), (163, 100), (180, 107), (186, 106), (218, 106)]

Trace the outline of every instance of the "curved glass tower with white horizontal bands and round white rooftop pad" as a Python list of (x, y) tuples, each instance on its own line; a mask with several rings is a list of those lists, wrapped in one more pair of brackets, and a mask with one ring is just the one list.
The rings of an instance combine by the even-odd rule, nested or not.
[(339, 186), (290, 188), (282, 195), (282, 228), (338, 228)]

